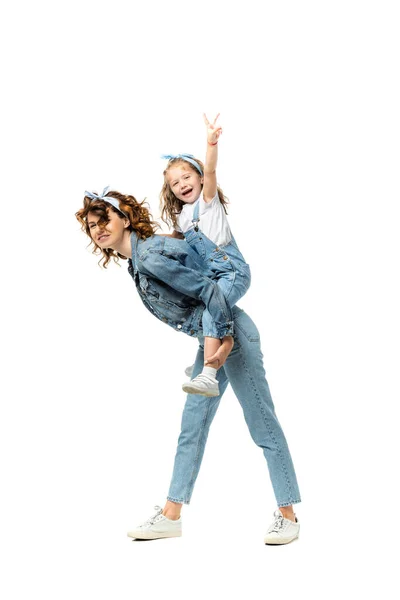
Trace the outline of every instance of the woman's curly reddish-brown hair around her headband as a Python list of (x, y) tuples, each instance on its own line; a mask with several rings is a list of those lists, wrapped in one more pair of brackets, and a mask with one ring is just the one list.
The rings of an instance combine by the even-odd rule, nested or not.
[[(129, 218), (130, 226), (128, 227), (128, 230), (134, 231), (140, 239), (145, 240), (154, 235), (156, 229), (160, 227), (158, 223), (152, 220), (149, 209), (144, 205), (145, 200), (143, 200), (143, 202), (138, 202), (134, 196), (120, 194), (120, 192), (112, 190), (107, 192), (105, 197), (107, 196), (119, 201), (121, 211)], [(126, 260), (126, 256), (122, 256), (122, 254), (111, 248), (100, 248), (100, 246), (93, 241), (88, 226), (87, 216), (92, 212), (99, 217), (100, 224), (105, 225), (109, 221), (108, 210), (113, 210), (121, 217), (121, 213), (108, 202), (104, 200), (93, 200), (92, 198), (89, 198), (89, 196), (85, 196), (83, 199), (83, 208), (80, 208), (75, 213), (75, 217), (81, 224), (82, 231), (90, 237), (89, 246), (93, 244), (92, 254), (102, 255), (99, 260), (99, 265), (105, 269), (111, 259), (113, 259), (115, 263), (118, 263), (120, 258)]]

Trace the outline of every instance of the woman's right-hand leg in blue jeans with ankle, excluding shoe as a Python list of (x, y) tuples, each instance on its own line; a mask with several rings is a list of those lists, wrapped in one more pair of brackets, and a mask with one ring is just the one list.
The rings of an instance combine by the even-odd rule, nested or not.
[[(235, 345), (224, 370), (239, 400), (255, 443), (262, 448), (276, 501), (284, 516), (301, 502), (292, 458), (265, 377), (258, 330), (250, 317), (234, 307)], [(287, 507), (287, 508), (285, 508)]]

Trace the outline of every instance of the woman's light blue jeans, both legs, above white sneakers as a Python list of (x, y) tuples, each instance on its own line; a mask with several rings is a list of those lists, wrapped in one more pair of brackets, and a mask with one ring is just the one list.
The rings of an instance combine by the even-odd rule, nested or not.
[[(200, 470), (208, 431), (228, 383), (239, 400), (250, 435), (262, 448), (278, 506), (301, 502), (289, 448), (275, 414), (265, 378), (260, 336), (250, 317), (233, 308), (235, 345), (217, 373), (220, 395), (214, 398), (188, 394), (182, 415), (168, 500), (189, 504)], [(200, 342), (202, 340), (200, 339)], [(203, 347), (197, 353), (193, 376), (201, 372)]]

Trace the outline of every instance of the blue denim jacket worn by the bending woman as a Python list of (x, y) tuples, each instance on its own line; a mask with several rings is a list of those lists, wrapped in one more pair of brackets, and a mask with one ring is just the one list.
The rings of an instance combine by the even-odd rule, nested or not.
[(206, 308), (215, 337), (233, 334), (232, 311), (217, 284), (215, 273), (185, 240), (151, 236), (141, 240), (132, 233), (128, 271), (146, 308), (177, 331), (203, 334)]

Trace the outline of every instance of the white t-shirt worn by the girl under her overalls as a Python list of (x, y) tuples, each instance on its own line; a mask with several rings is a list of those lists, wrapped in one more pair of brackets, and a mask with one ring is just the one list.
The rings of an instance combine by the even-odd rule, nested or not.
[(178, 225), (176, 231), (186, 233), (193, 229), (192, 223), (194, 207), (199, 206), (199, 229), (217, 246), (225, 246), (232, 240), (232, 233), (229, 227), (228, 219), (224, 207), (222, 206), (218, 192), (211, 202), (204, 202), (203, 194), (193, 204), (185, 204), (178, 216)]

